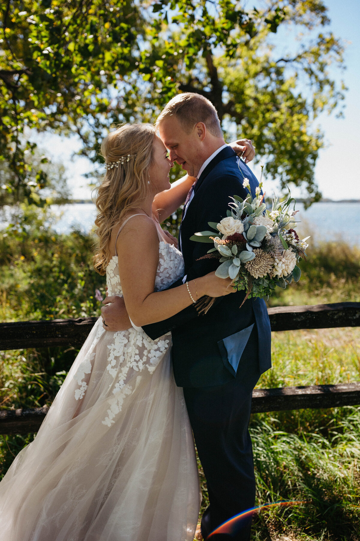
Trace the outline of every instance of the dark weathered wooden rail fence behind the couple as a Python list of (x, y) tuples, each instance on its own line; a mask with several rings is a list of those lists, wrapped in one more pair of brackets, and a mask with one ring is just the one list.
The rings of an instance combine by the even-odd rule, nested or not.
[[(360, 302), (268, 309), (272, 331), (359, 327)], [(97, 318), (19, 321), (0, 324), (0, 350), (28, 347), (81, 347)], [(252, 412), (360, 405), (360, 382), (282, 387), (253, 391)], [(0, 434), (36, 432), (47, 408), (0, 411)]]

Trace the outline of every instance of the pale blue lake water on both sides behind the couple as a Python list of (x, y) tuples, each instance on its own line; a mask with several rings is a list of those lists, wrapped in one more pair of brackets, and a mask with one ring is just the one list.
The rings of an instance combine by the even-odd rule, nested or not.
[[(90, 232), (96, 217), (93, 203), (73, 203), (53, 207), (60, 215), (54, 226), (58, 233), (67, 233), (71, 228)], [(350, 245), (360, 246), (360, 202), (354, 203), (314, 203), (304, 210), (303, 204), (296, 208), (297, 230), (302, 235), (311, 235), (314, 241), (342, 239)]]

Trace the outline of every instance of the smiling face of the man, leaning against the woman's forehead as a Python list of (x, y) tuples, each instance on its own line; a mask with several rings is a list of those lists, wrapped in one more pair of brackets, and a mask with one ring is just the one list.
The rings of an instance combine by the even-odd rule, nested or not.
[(178, 163), (188, 175), (196, 177), (205, 161), (202, 157), (203, 137), (199, 137), (196, 127), (187, 133), (175, 116), (167, 116), (160, 123), (159, 135), (169, 151), (169, 159)]

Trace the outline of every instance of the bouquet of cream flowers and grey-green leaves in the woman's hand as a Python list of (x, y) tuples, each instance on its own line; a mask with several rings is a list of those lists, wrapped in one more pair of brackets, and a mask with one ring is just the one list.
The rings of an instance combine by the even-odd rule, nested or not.
[[(301, 271), (296, 263), (305, 259), (309, 238), (300, 240), (294, 229), (297, 223), (294, 216), (298, 211), (290, 194), (283, 202), (275, 197), (269, 212), (261, 195), (262, 182), (256, 188), (254, 199), (249, 186), (249, 180), (244, 179), (243, 187), (249, 194), (245, 200), (237, 195), (230, 198), (233, 202), (229, 203), (226, 218), (219, 223), (208, 222), (216, 233), (202, 231), (190, 238), (214, 243), (214, 248), (203, 258), (220, 259), (216, 276), (230, 277), (234, 288), (247, 292), (246, 298), (271, 295), (276, 286), (286, 288), (293, 279), (297, 282)], [(290, 211), (291, 202), (294, 203), (293, 212)]]

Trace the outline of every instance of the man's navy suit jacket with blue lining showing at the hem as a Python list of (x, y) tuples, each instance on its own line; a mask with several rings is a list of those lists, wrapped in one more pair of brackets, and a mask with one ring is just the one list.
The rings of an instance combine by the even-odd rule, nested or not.
[[(244, 177), (249, 179), (254, 197), (259, 182), (235, 151), (227, 147), (214, 157), (196, 182), (194, 197), (180, 228), (187, 280), (199, 278), (219, 266), (218, 259), (199, 260), (212, 245), (189, 239), (198, 231), (209, 230), (208, 222), (218, 223), (226, 217), (230, 197), (246, 197), (242, 186)], [(178, 280), (172, 287), (181, 283)], [(205, 315), (199, 315), (191, 305), (171, 318), (142, 327), (152, 339), (172, 332), (173, 369), (179, 387), (222, 385), (234, 379), (238, 368), (241, 370), (240, 366), (246, 362), (243, 359), (239, 365), (254, 326), (259, 340), (260, 373), (271, 367), (271, 331), (266, 304), (263, 299), (250, 298), (240, 308), (244, 296), (243, 291), (230, 293), (216, 299)]]

